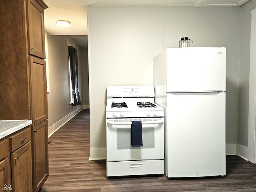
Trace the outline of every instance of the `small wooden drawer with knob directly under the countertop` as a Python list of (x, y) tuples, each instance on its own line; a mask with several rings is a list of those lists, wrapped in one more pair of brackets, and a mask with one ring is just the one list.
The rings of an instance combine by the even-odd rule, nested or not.
[(31, 141), (31, 130), (30, 127), (26, 128), (24, 131), (14, 134), (10, 137), (10, 150), (14, 152), (16, 149), (20, 148), (22, 145)]

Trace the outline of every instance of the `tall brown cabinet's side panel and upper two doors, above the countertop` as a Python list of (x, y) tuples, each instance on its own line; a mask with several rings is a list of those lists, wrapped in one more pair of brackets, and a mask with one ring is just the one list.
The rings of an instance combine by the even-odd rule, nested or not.
[[(0, 92), (0, 98), (5, 107), (0, 108), (0, 120), (33, 121), (41, 118), (37, 122), (40, 123), (47, 119), (43, 8), (38, 8), (38, 2), (42, 1), (1, 2), (0, 12), (4, 17), (0, 17), (0, 90), (4, 91)], [(30, 13), (38, 11), (35, 7), (42, 12), (40, 18), (36, 13)], [(36, 28), (38, 23), (42, 30), (40, 33)], [(34, 51), (28, 48), (30, 44), (33, 44)], [(35, 85), (37, 83), (38, 86)], [(40, 91), (40, 100), (35, 104), (33, 101), (38, 96), (37, 91)]]

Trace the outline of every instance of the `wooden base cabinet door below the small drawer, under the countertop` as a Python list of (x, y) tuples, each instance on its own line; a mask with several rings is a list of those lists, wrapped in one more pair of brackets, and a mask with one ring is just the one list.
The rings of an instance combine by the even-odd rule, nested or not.
[(31, 142), (11, 154), (12, 192), (32, 192)]

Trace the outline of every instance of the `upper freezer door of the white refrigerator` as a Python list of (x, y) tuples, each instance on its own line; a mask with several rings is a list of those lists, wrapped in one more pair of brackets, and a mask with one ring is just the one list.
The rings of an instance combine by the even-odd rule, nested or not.
[(167, 48), (166, 92), (226, 91), (226, 48)]

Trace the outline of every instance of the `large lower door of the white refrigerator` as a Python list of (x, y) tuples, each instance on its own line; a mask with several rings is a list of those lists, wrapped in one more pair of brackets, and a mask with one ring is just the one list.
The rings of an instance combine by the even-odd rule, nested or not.
[(226, 93), (167, 94), (165, 174), (226, 174)]

